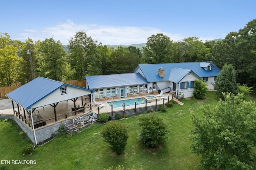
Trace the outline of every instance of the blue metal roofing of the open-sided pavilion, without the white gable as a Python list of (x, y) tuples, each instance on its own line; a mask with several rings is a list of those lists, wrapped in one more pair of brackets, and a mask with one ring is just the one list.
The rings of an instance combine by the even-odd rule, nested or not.
[(56, 89), (64, 85), (84, 89), (82, 87), (62, 83), (60, 81), (55, 81), (44, 77), (37, 77), (36, 79), (26, 83), (25, 85), (22, 85), (18, 89), (15, 89), (14, 91), (6, 94), (6, 97), (12, 99), (25, 109), (30, 109), (30, 106), (37, 103), (44, 97), (50, 95)]

